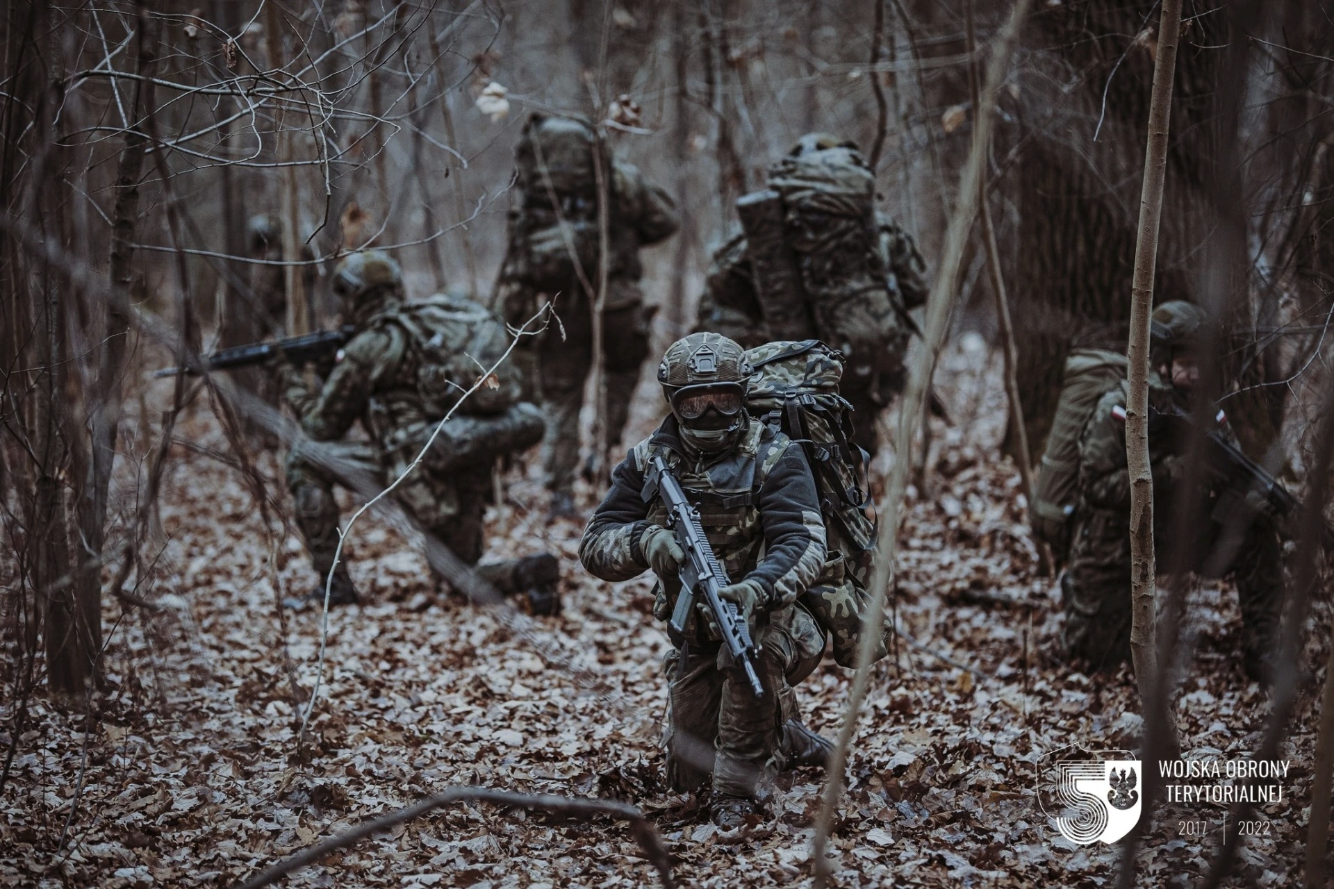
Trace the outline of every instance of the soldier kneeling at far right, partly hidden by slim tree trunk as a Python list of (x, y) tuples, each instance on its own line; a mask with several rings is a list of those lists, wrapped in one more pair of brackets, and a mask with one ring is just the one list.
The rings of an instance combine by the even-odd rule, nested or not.
[[(1202, 512), (1181, 522), (1177, 505), (1186, 496), (1189, 457), (1181, 436), (1173, 435), (1155, 412), (1189, 408), (1198, 381), (1195, 352), (1203, 312), (1185, 301), (1154, 309), (1150, 375), (1149, 452), (1154, 482), (1154, 538), (1163, 569), (1186, 564), (1206, 570), (1215, 552), (1219, 525), (1211, 520), (1226, 478), (1202, 470)], [(1130, 473), (1126, 464), (1126, 396), (1129, 384), (1109, 391), (1094, 409), (1079, 440), (1079, 504), (1075, 510), (1070, 562), (1062, 577), (1065, 628), (1062, 642), (1070, 657), (1093, 669), (1114, 666), (1130, 657)], [(1222, 412), (1218, 429), (1235, 443)], [(1207, 461), (1201, 461), (1206, 462)], [(1261, 678), (1273, 645), (1283, 600), (1281, 541), (1271, 517), (1258, 514), (1245, 545), (1225, 566), (1237, 582), (1242, 610), (1243, 666)], [(1218, 573), (1217, 569), (1214, 573)]]

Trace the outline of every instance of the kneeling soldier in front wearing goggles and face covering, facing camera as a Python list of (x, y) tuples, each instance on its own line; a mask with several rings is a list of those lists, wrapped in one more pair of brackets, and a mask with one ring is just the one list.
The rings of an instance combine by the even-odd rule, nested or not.
[(744, 408), (751, 376), (743, 349), (716, 333), (676, 341), (658, 368), (671, 415), (612, 473), (579, 546), (603, 580), (658, 576), (654, 616), (666, 621), (680, 592), (684, 554), (664, 526), (660, 498), (643, 498), (650, 460), (663, 457), (732, 578), (720, 596), (754, 626), (756, 698), (710, 630), (711, 613), (684, 634), (670, 629), (671, 700), (667, 776), (679, 790), (712, 778), (711, 810), (724, 828), (762, 812), (767, 778), (823, 762), (828, 745), (798, 718), (794, 685), (819, 664), (824, 632), (799, 602), (824, 566), (826, 537), (815, 481), (802, 446), (752, 420)]

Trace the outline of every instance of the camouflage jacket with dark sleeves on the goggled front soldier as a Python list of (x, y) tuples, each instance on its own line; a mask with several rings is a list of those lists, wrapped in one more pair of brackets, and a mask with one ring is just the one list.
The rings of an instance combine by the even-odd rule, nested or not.
[[(736, 448), (694, 460), (670, 416), (612, 473), (611, 490), (579, 544), (591, 574), (628, 580), (648, 569), (640, 538), (650, 525), (667, 524), (660, 498), (646, 504), (642, 496), (648, 461), (658, 454), (699, 506), (708, 542), (732, 581), (759, 581), (768, 609), (791, 605), (815, 581), (824, 565), (824, 522), (802, 446), (751, 420)], [(666, 618), (672, 600), (660, 589), (654, 613)]]

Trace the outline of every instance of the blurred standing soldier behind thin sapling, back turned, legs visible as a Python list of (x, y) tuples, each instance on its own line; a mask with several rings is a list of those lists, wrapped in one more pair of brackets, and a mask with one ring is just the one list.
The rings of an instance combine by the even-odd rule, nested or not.
[[(579, 464), (579, 409), (592, 367), (592, 305), (598, 287), (599, 225), (594, 172), (596, 140), (583, 119), (534, 115), (515, 148), (519, 200), (510, 212), (506, 259), (496, 305), (511, 325), (523, 324), (556, 299), (560, 324), (530, 347), (534, 389), (547, 417), (543, 469), (552, 513), (572, 514)], [(606, 152), (610, 256), (603, 313), (607, 372), (607, 445), (620, 440), (639, 367), (648, 356), (652, 309), (639, 279), (642, 247), (671, 236), (679, 221), (671, 197), (631, 164)], [(564, 335), (562, 337), (562, 333)], [(602, 454), (600, 454), (602, 456)]]

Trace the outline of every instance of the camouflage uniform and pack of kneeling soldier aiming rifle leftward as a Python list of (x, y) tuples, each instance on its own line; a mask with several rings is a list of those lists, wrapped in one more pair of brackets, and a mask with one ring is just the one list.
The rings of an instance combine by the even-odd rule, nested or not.
[[(335, 443), (325, 446), (334, 446), (338, 456), (387, 485), (407, 469), (440, 417), (504, 348), (503, 325), (476, 303), (440, 295), (422, 303), (390, 300), (348, 341), (317, 392), (309, 392), (295, 369), (285, 367), (287, 399), (307, 436)], [(446, 425), (447, 435), (436, 441), (432, 453), (394, 490), (412, 516), (470, 564), (482, 556), (491, 460), (502, 453), (488, 445), (498, 435), (508, 435), (508, 446), (531, 445), (542, 435), (536, 409), (518, 404), (518, 371), (506, 363), (492, 383), (460, 405), (460, 421)], [(512, 429), (516, 415), (528, 419), (520, 435)], [(358, 421), (371, 441), (338, 441)], [(478, 453), (486, 457), (479, 460)], [(338, 545), (339, 514), (332, 492), (338, 480), (300, 449), (288, 454), (287, 480), (297, 526), (323, 576)], [(506, 572), (488, 568), (488, 576), (503, 589)]]

